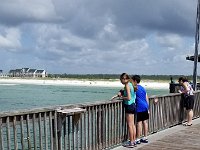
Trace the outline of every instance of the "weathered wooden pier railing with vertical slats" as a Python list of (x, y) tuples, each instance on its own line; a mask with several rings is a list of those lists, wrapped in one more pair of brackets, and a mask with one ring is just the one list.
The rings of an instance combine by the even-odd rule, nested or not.
[[(195, 93), (194, 118), (200, 115)], [(180, 94), (150, 97), (149, 134), (186, 119)], [(96, 150), (127, 138), (121, 100), (0, 113), (1, 150)]]

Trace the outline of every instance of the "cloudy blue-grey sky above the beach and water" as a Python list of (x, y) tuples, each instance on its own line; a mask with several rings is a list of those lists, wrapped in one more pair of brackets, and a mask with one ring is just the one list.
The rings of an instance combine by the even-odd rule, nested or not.
[[(192, 75), (197, 0), (0, 0), (0, 70)], [(199, 68), (199, 67), (198, 67)], [(199, 71), (198, 71), (199, 72)]]

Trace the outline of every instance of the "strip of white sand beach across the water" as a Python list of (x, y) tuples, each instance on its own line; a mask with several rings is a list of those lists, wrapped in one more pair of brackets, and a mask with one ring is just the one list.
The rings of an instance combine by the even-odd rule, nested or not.
[[(63, 85), (63, 86), (97, 86), (97, 87), (120, 87), (123, 85), (118, 79), (114, 80), (89, 80), (89, 79), (19, 79), (0, 78), (0, 85), (5, 84), (35, 84), (35, 85)], [(141, 85), (151, 89), (169, 89), (167, 81), (143, 80)]]

